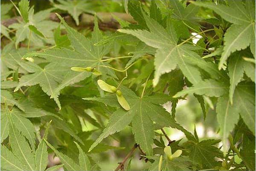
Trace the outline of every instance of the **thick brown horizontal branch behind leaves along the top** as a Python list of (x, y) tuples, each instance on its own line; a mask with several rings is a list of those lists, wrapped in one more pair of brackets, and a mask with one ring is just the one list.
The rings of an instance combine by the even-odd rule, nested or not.
[[(112, 12), (112, 13), (98, 12), (98, 13), (96, 13), (96, 15), (99, 18), (99, 28), (100, 29), (107, 30), (107, 29), (118, 29), (119, 28), (119, 23), (113, 18), (112, 14), (115, 15), (116, 17), (119, 17), (122, 20), (128, 21), (129, 23), (137, 23), (130, 14), (120, 13), (120, 12)], [(79, 26), (76, 26), (75, 21), (73, 20), (73, 18), (70, 15), (61, 14), (61, 16), (64, 17), (64, 20), (72, 27), (93, 28), (93, 26), (94, 26), (94, 23), (93, 23), (94, 16), (92, 14), (82, 13), (79, 17), (79, 20), (80, 20)], [(57, 15), (53, 12), (49, 14), (48, 18), (49, 18), (49, 20), (60, 22)], [(12, 17), (10, 19), (1, 21), (1, 24), (8, 27), (13, 23), (17, 23), (19, 20), (22, 20), (22, 18), (20, 16)]]

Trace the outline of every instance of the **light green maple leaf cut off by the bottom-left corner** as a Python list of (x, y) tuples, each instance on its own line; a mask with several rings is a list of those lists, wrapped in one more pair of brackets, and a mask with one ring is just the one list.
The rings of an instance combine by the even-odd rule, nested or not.
[[(20, 134), (17, 121), (13, 120), (13, 113), (6, 107), (6, 116), (9, 121), (9, 137), (12, 151), (1, 145), (1, 168), (7, 170), (40, 170), (44, 171), (48, 164), (47, 145), (41, 141), (35, 153), (31, 151), (25, 137)], [(17, 123), (15, 123), (17, 122)], [(22, 123), (22, 122), (21, 122)], [(47, 124), (44, 138), (47, 139), (50, 122)], [(29, 128), (29, 127), (28, 127)], [(22, 131), (21, 131), (22, 132)], [(35, 141), (35, 139), (33, 139)], [(19, 156), (19, 157), (16, 157)]]

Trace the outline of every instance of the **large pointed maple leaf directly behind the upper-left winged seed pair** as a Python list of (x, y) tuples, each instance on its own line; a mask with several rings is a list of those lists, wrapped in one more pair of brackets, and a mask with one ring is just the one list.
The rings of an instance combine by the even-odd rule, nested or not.
[[(58, 15), (58, 17), (60, 17)], [(96, 42), (99, 42), (102, 40), (102, 34), (99, 30), (98, 21), (95, 17), (95, 26), (94, 31), (92, 33), (92, 38), (88, 39), (84, 37), (84, 35), (81, 35), (81, 33), (77, 32), (73, 28), (67, 25), (67, 23), (61, 18), (61, 22), (64, 24), (66, 30), (67, 30), (67, 37), (70, 40), (71, 45), (74, 47), (76, 51), (66, 49), (66, 48), (54, 48), (49, 49), (44, 52), (31, 52), (27, 53), (25, 57), (32, 57), (32, 56), (39, 56), (42, 58), (46, 58), (51, 63), (58, 63), (59, 65), (62, 65), (67, 70), (70, 70), (70, 67), (97, 67), (98, 65), (105, 65), (109, 66), (108, 63), (102, 61), (102, 58), (104, 55), (106, 55), (111, 47), (110, 45), (106, 46), (94, 46)], [(58, 67), (58, 65), (56, 66)], [(60, 68), (61, 69), (61, 68)], [(108, 68), (98, 67), (100, 72), (104, 74), (108, 74), (114, 78), (116, 78), (115, 73), (113, 70), (110, 70)], [(61, 70), (55, 70), (54, 72), (61, 74)], [(81, 80), (84, 80), (85, 78), (89, 77), (91, 75), (90, 72), (74, 72), (70, 71), (65, 75), (65, 78), (61, 84), (57, 87), (54, 87), (52, 89), (52, 92), (48, 95), (51, 96), (51, 98), (55, 99), (56, 103), (58, 104), (58, 107), (61, 109), (61, 104), (58, 100), (58, 96), (60, 94), (60, 90), (64, 87), (69, 86), (70, 84), (77, 83)]]

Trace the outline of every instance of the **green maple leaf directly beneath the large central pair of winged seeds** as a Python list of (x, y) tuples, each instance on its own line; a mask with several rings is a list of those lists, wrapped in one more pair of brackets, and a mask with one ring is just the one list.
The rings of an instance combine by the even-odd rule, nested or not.
[[(99, 138), (96, 139), (89, 151), (95, 148), (105, 137), (121, 131), (126, 125), (132, 123), (135, 141), (140, 144), (140, 147), (147, 155), (152, 155), (154, 138), (153, 121), (161, 126), (171, 126), (172, 128), (178, 128), (180, 130), (183, 129), (175, 122), (170, 113), (159, 105), (170, 101), (171, 98), (169, 96), (156, 94), (140, 98), (124, 86), (121, 86), (120, 90), (128, 101), (130, 110), (126, 111), (122, 108), (117, 109), (109, 119), (107, 127), (103, 130)], [(120, 107), (115, 94), (84, 99), (103, 102), (113, 107)]]

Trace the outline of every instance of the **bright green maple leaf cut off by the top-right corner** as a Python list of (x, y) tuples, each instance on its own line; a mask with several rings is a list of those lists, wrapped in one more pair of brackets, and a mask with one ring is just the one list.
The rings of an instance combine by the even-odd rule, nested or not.
[(194, 3), (197, 6), (203, 6), (214, 10), (221, 15), (224, 20), (233, 23), (224, 35), (224, 48), (221, 54), (219, 69), (236, 50), (245, 49), (250, 45), (250, 50), (255, 58), (255, 1), (229, 0), (229, 7), (214, 3)]

